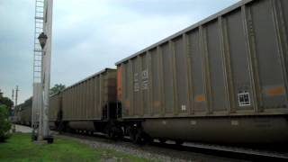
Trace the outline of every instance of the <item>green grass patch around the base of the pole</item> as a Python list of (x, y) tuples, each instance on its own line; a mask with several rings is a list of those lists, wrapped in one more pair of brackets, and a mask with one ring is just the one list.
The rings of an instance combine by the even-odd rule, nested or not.
[(31, 142), (31, 134), (16, 133), (0, 143), (0, 161), (148, 161), (112, 149), (90, 148), (75, 139), (57, 138), (53, 144)]

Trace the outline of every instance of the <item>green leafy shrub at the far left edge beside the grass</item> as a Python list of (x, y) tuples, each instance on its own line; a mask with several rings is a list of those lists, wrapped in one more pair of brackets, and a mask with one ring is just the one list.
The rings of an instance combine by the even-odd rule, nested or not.
[(0, 142), (4, 142), (9, 137), (11, 123), (8, 121), (8, 116), (6, 105), (0, 104)]

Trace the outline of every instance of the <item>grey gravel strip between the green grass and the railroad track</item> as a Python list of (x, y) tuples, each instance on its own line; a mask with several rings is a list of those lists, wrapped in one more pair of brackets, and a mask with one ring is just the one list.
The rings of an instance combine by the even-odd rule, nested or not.
[(89, 137), (77, 134), (69, 135), (57, 135), (61, 138), (76, 139), (81, 143), (85, 143), (92, 148), (107, 148), (119, 151), (121, 153), (126, 153), (134, 155), (137, 157), (147, 158), (150, 161), (196, 161), (196, 162), (221, 162), (221, 161), (239, 161), (226, 157), (214, 157), (209, 155), (203, 155), (200, 153), (193, 153), (188, 151), (175, 150), (171, 148), (159, 148), (150, 145), (134, 145), (126, 141), (114, 141), (111, 139), (104, 139), (99, 137)]

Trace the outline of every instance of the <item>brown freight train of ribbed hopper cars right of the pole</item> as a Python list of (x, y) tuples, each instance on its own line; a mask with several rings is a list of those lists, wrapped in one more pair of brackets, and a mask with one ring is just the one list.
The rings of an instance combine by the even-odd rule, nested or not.
[(50, 97), (50, 128), (288, 142), (288, 1), (242, 0)]

